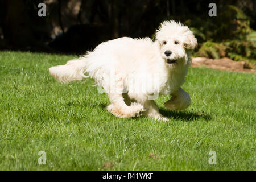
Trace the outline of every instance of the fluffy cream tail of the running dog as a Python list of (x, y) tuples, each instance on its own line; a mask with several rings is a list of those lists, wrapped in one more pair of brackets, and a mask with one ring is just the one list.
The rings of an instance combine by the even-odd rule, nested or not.
[(57, 81), (67, 83), (87, 78), (88, 76), (84, 75), (87, 67), (88, 61), (85, 57), (82, 57), (82, 59), (70, 60), (65, 65), (51, 67), (49, 68), (49, 73)]

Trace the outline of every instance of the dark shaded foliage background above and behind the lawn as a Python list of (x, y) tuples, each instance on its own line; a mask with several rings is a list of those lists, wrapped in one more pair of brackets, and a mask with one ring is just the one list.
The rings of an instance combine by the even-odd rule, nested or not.
[[(38, 4), (46, 3), (46, 17)], [(210, 17), (210, 2), (217, 17)], [(82, 54), (118, 38), (150, 36), (163, 20), (179, 20), (199, 40), (195, 56), (255, 62), (256, 0), (2, 0), (0, 49)]]

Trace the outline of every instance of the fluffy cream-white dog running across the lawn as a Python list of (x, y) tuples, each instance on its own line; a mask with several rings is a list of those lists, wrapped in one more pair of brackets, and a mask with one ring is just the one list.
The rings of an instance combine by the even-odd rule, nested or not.
[(197, 39), (187, 26), (173, 20), (160, 24), (155, 39), (109, 40), (79, 59), (49, 68), (49, 72), (60, 82), (94, 78), (109, 95), (110, 105), (106, 109), (117, 117), (143, 114), (167, 121), (159, 113), (154, 96), (170, 94), (171, 100), (164, 104), (170, 110), (190, 105), (189, 94), (180, 86), (185, 81)]

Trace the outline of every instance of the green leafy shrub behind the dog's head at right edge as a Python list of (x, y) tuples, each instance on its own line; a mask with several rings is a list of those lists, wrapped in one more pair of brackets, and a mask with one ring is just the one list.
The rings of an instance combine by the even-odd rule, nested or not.
[[(187, 20), (199, 42), (194, 56), (256, 63), (256, 31), (250, 28), (250, 18), (238, 7), (228, 5), (216, 18), (200, 17)], [(204, 22), (204, 23), (202, 23)], [(250, 64), (251, 65), (251, 64)]]

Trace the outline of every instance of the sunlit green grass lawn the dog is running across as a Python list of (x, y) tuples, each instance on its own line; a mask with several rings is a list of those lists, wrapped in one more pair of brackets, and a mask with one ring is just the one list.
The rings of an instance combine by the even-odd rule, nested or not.
[(74, 57), (0, 52), (0, 170), (256, 169), (253, 73), (189, 68), (191, 106), (168, 111), (168, 96), (159, 97), (164, 123), (116, 118), (92, 79), (60, 84), (49, 75)]

